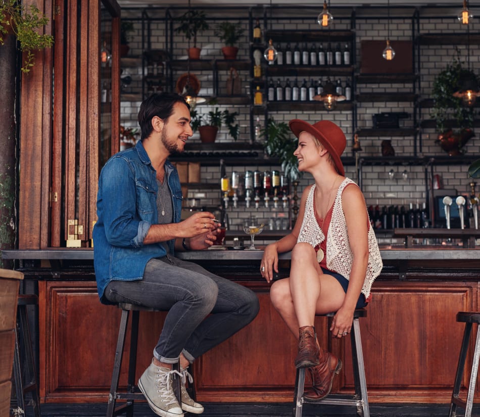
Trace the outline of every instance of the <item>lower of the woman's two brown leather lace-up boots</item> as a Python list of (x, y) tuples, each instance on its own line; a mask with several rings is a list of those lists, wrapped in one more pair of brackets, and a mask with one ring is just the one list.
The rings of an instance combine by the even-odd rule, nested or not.
[(340, 373), (340, 369), (342, 361), (330, 352), (320, 349), (320, 364), (308, 368), (313, 387), (306, 389), (303, 396), (309, 400), (325, 398), (330, 393), (333, 377)]

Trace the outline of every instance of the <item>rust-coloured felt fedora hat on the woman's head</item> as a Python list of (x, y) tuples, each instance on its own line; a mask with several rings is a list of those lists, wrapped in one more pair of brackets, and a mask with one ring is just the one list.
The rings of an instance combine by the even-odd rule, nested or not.
[(320, 120), (315, 124), (310, 124), (300, 119), (291, 120), (289, 126), (297, 137), (303, 131), (313, 134), (330, 153), (339, 174), (345, 175), (340, 155), (345, 151), (347, 138), (339, 126), (329, 120)]

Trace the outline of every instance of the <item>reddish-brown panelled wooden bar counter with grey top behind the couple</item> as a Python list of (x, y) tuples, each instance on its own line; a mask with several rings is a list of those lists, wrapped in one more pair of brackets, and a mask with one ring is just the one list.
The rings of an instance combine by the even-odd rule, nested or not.
[[(194, 364), (197, 397), (215, 402), (290, 402), (297, 343), (269, 300), (259, 274), (262, 251), (207, 250), (179, 256), (253, 289), (256, 319)], [(120, 311), (99, 302), (90, 249), (3, 251), (19, 260), (38, 291), (40, 395), (45, 402), (107, 401)], [(463, 333), (458, 311), (478, 311), (480, 250), (381, 250), (384, 267), (360, 320), (370, 402), (448, 403)], [(290, 254), (280, 257), (278, 279)], [(150, 363), (164, 313), (140, 315), (137, 373)], [(344, 361), (333, 392), (352, 392), (350, 344), (332, 340), (323, 317), (320, 344)], [(127, 342), (128, 346), (128, 342)], [(472, 350), (466, 367), (471, 367)], [(137, 376), (138, 378), (138, 376)], [(464, 385), (469, 375), (464, 377)], [(126, 367), (121, 382), (126, 383)], [(478, 390), (478, 387), (476, 387)], [(480, 396), (475, 393), (475, 401)]]

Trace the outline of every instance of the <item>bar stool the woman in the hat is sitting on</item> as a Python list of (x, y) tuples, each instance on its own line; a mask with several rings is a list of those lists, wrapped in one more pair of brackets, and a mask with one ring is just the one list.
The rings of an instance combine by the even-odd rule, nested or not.
[[(331, 317), (335, 313), (324, 314)], [(323, 314), (322, 314), (323, 315)], [(353, 315), (353, 332), (350, 332), (350, 341), (352, 343), (352, 362), (353, 377), (355, 382), (355, 394), (329, 394), (321, 400), (308, 400), (303, 396), (305, 386), (305, 368), (297, 369), (297, 377), (295, 380), (294, 393), (294, 414), (295, 417), (302, 417), (304, 403), (312, 404), (330, 404), (330, 405), (354, 405), (357, 408), (357, 414), (361, 417), (370, 417), (370, 409), (368, 407), (367, 383), (365, 380), (365, 368), (363, 364), (362, 340), (360, 338), (360, 317), (366, 317), (367, 310), (360, 308), (355, 310)]]

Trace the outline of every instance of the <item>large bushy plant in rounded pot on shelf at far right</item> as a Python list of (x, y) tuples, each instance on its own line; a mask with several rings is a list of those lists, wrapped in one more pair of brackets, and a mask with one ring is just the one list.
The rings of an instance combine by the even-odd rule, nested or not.
[[(459, 155), (462, 147), (473, 136), (473, 109), (462, 106), (461, 99), (453, 96), (459, 89), (459, 80), (464, 77), (476, 78), (470, 70), (463, 68), (457, 56), (452, 64), (437, 75), (433, 85), (434, 107), (430, 115), (435, 120), (439, 133), (437, 142), (449, 155)], [(455, 129), (448, 127), (452, 120)]]

